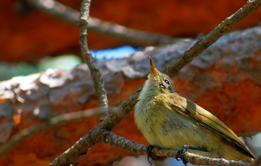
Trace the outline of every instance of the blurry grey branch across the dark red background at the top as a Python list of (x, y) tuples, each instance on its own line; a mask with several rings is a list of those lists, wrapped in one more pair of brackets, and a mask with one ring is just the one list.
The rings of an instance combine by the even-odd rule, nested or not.
[[(79, 25), (79, 12), (57, 1), (26, 0), (26, 4), (34, 9), (51, 14), (74, 25)], [(111, 37), (118, 37), (120, 39), (124, 39), (125, 41), (139, 45), (165, 45), (184, 40), (181, 38), (172, 38), (162, 34), (134, 30), (123, 25), (102, 21), (94, 17), (89, 17), (88, 19), (88, 30), (106, 34)]]

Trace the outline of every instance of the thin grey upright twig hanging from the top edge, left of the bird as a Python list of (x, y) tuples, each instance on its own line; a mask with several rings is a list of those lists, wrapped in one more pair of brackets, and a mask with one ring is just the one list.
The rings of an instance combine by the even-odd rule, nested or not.
[(107, 92), (104, 87), (102, 74), (99, 70), (96, 59), (92, 56), (92, 53), (88, 48), (87, 25), (88, 25), (89, 14), (90, 14), (90, 0), (85, 0), (82, 2), (81, 12), (80, 12), (80, 37), (79, 37), (80, 41), (79, 42), (81, 46), (81, 54), (84, 61), (87, 63), (88, 67), (90, 68), (95, 90), (99, 96), (100, 106), (107, 108), (108, 107)]

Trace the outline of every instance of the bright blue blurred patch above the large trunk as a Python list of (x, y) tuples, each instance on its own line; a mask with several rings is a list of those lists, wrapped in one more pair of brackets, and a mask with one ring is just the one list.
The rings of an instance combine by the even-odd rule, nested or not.
[(118, 59), (118, 58), (122, 58), (122, 57), (126, 57), (129, 54), (133, 54), (137, 51), (137, 50), (129, 45), (125, 45), (122, 47), (118, 47), (118, 48), (112, 48), (112, 49), (106, 49), (106, 50), (98, 50), (98, 51), (94, 51), (94, 50), (90, 50), (93, 54), (93, 57), (95, 57), (96, 59)]

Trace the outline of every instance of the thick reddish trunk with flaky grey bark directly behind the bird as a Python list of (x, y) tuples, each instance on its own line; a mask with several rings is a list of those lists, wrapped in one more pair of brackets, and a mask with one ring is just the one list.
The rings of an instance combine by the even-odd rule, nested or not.
[[(110, 106), (118, 106), (144, 83), (149, 72), (149, 56), (155, 67), (162, 70), (195, 41), (185, 39), (174, 45), (147, 47), (144, 52), (122, 59), (99, 60)], [(224, 35), (173, 78), (176, 91), (213, 113), (238, 135), (260, 132), (260, 43), (261, 27)], [(87, 65), (15, 77), (1, 82), (0, 88), (3, 144), (32, 124), (48, 121), (58, 114), (99, 106)], [(1, 163), (48, 165), (97, 125), (99, 117), (68, 123), (28, 134), (19, 146), (1, 157)], [(135, 143), (147, 144), (133, 123), (132, 112), (113, 132)], [(100, 143), (77, 163), (106, 165), (129, 154), (133, 153)]]

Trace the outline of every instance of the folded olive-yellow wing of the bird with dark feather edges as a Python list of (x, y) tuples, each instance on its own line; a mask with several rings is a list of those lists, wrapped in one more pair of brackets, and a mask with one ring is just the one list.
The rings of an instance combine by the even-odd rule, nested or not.
[(224, 136), (224, 138), (238, 147), (238, 149), (241, 149), (242, 152), (247, 156), (250, 156), (251, 158), (255, 157), (248, 147), (238, 138), (238, 136), (213, 114), (193, 103), (192, 101), (179, 96), (178, 94), (175, 96), (172, 94), (169, 99), (169, 102), (172, 103), (172, 107), (176, 108), (174, 110), (177, 110), (180, 114), (183, 114), (184, 116), (193, 119), (197, 123), (200, 123)]

